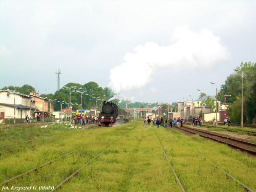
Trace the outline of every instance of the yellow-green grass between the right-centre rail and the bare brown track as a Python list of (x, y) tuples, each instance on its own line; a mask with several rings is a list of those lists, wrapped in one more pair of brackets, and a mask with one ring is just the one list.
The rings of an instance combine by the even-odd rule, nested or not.
[(185, 188), (196, 191), (245, 190), (233, 180), (227, 179), (222, 170), (199, 156), (199, 152), (255, 190), (255, 158), (249, 158), (227, 145), (205, 140), (198, 135), (189, 137), (179, 133), (177, 136), (170, 136), (166, 132), (171, 131), (161, 129), (159, 137)]

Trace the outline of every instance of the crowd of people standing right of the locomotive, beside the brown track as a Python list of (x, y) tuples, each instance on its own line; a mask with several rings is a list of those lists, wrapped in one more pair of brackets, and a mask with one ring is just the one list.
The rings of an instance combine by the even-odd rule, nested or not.
[(146, 125), (150, 125), (151, 121), (153, 122), (153, 126), (157, 126), (157, 128), (159, 128), (159, 126), (163, 126), (163, 127), (183, 127), (183, 124), (185, 124), (185, 127), (187, 126), (187, 118), (174, 118), (174, 120), (172, 118), (163, 118), (161, 117), (159, 118), (154, 118), (153, 120), (151, 120), (149, 117), (146, 119), (144, 118), (144, 126)]

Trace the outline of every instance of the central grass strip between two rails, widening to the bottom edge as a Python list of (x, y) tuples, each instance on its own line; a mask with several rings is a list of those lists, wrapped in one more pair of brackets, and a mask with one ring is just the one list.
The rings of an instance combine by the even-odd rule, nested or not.
[(124, 135), (98, 159), (84, 167), (61, 191), (181, 191), (150, 130)]

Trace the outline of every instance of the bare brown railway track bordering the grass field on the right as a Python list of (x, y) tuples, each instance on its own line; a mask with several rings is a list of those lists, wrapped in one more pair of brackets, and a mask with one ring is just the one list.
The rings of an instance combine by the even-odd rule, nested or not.
[(187, 131), (193, 134), (198, 134), (201, 137), (205, 137), (208, 139), (212, 139), (221, 143), (225, 143), (231, 147), (237, 148), (241, 151), (247, 152), (251, 155), (256, 155), (256, 144), (239, 140), (239, 139), (234, 139), (231, 137), (226, 137), (226, 136), (221, 136), (218, 134), (210, 133), (207, 131), (202, 131), (199, 129), (191, 128), (191, 127), (179, 127), (178, 129)]

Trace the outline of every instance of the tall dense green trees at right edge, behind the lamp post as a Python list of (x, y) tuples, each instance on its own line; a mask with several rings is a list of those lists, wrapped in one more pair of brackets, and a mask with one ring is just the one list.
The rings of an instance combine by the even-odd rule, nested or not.
[[(243, 72), (243, 120), (246, 121), (246, 123), (252, 123), (256, 113), (256, 63), (242, 62), (237, 69)], [(223, 103), (224, 95), (232, 95), (226, 98), (226, 103), (229, 105), (229, 108), (231, 108), (230, 111), (228, 110), (228, 114), (230, 118), (234, 120), (232, 122), (239, 123), (241, 123), (240, 105), (242, 105), (242, 72), (240, 71), (230, 74), (218, 93), (218, 99)], [(239, 115), (240, 118), (238, 117)]]

